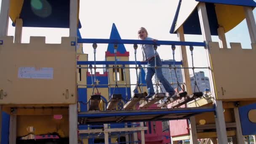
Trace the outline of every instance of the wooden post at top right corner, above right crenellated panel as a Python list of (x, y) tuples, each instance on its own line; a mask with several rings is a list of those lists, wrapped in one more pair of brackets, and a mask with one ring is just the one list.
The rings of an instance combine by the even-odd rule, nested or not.
[(244, 6), (245, 19), (249, 30), (249, 35), (251, 38), (251, 43), (256, 43), (256, 24), (253, 17), (253, 8)]

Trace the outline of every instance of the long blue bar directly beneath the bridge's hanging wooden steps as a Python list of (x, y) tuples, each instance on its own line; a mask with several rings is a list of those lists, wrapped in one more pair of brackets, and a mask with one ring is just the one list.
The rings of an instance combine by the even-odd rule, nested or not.
[(169, 115), (169, 114), (183, 114), (183, 113), (201, 113), (214, 112), (215, 108), (211, 109), (189, 109), (189, 110), (172, 110), (172, 111), (157, 111), (157, 112), (127, 112), (122, 113), (97, 113), (97, 114), (78, 114), (78, 117), (121, 117), (121, 116), (138, 116), (138, 115)]

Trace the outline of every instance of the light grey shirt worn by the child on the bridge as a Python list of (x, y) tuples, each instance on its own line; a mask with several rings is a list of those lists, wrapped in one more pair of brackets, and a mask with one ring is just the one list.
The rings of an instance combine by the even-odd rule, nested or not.
[[(151, 37), (146, 37), (145, 40), (153, 40)], [(141, 47), (142, 49), (142, 56), (143, 60), (149, 60), (152, 57), (155, 56), (153, 45), (144, 44)], [(156, 56), (158, 56), (158, 53), (156, 51)]]

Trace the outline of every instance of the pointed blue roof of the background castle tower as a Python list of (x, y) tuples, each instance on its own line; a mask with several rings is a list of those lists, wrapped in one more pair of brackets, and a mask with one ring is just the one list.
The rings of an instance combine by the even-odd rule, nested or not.
[[(115, 26), (115, 23), (113, 23), (113, 25), (112, 25), (111, 34), (110, 34), (109, 39), (121, 40), (121, 37), (119, 35), (117, 27)], [(114, 53), (114, 44), (108, 45), (107, 53), (112, 53), (112, 54)], [(118, 44), (117, 54), (125, 54), (125, 53), (127, 53), (125, 46), (123, 44)]]

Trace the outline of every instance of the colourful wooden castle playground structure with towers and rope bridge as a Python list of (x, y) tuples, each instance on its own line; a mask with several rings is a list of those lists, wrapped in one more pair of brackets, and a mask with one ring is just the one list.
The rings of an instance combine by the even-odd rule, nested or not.
[[(62, 5), (59, 6), (59, 3)], [(45, 5), (51, 5), (48, 7), (51, 9), (42, 8)], [(171, 29), (171, 33), (178, 33), (180, 41), (159, 40), (154, 43), (141, 40), (82, 39), (77, 36), (77, 29), (80, 27), (77, 0), (42, 1), (39, 5), (27, 0), (2, 0), (0, 104), (1, 111), (10, 115), (9, 134), (4, 136), (9, 138), (10, 144), (16, 144), (17, 137), (31, 133), (35, 135), (57, 133), (64, 139), (62, 143), (68, 138), (69, 144), (77, 144), (77, 132), (81, 125), (104, 124), (104, 128), (100, 129), (92, 129), (93, 126), (82, 128), (79, 136), (82, 133), (88, 133), (87, 137), (93, 135), (92, 133), (104, 133), (104, 142), (107, 144), (112, 133), (132, 131), (133, 141), (137, 141), (136, 133), (140, 132), (140, 142), (144, 144), (144, 130), (147, 130), (147, 127), (142, 123), (141, 127), (129, 127), (131, 123), (136, 125), (135, 123), (144, 121), (185, 119), (187, 125), (189, 119), (189, 133), (187, 130), (172, 132), (172, 129), (182, 126), (182, 122), (179, 121), (177, 128), (173, 128), (171, 121), (171, 135), (174, 140), (187, 139), (189, 136), (191, 142), (197, 144), (197, 139), (217, 137), (219, 144), (227, 144), (227, 136), (236, 136), (237, 143), (242, 144), (243, 135), (255, 134), (253, 128), (256, 126), (254, 104), (256, 97), (252, 87), (253, 75), (256, 71), (256, 66), (253, 64), (256, 53), (256, 24), (252, 13), (255, 6), (253, 0), (180, 1)], [(63, 19), (57, 19), (60, 13)], [(7, 36), (9, 16), (16, 27), (14, 42), (13, 37)], [(252, 49), (242, 49), (239, 43), (231, 43), (231, 48), (227, 48), (225, 32), (243, 19), (246, 19), (248, 24)], [(21, 43), (22, 27), (66, 27), (69, 28), (69, 37), (62, 37), (61, 44), (46, 44), (45, 37), (31, 37), (30, 43), (25, 44)], [(205, 42), (185, 42), (184, 34), (202, 34)], [(211, 35), (219, 35), (222, 48), (219, 48), (219, 43), (211, 42)], [(87, 55), (82, 53), (80, 43), (93, 43), (95, 51), (97, 43), (109, 43), (114, 53), (106, 53), (106, 56), (109, 54), (108, 61), (88, 61)], [(164, 98), (165, 94), (157, 93), (150, 101), (145, 100), (141, 93), (146, 88), (143, 88), (144, 83), (140, 79), (139, 86), (142, 86), (143, 90), (132, 98), (129, 97), (130, 86), (125, 83), (125, 79), (129, 80), (128, 69), (132, 68), (129, 65), (135, 65), (133, 68), (137, 72), (144, 63), (129, 61), (128, 57), (125, 57), (125, 52), (117, 53), (122, 44), (134, 44), (135, 53), (138, 44), (152, 44), (155, 49), (157, 49), (155, 45), (158, 44), (171, 45), (170, 53), (171, 51), (174, 53), (176, 46), (181, 45), (180, 64), (183, 66), (185, 82), (185, 87), (182, 89), (186, 90), (188, 95), (177, 101), (168, 99), (165, 103), (158, 104), (158, 107), (169, 108), (141, 109)], [(209, 66), (207, 69), (210, 71), (211, 96), (209, 93), (205, 96), (192, 93), (186, 46), (189, 46), (191, 52), (195, 46), (205, 48)], [(122, 61), (117, 61), (117, 57)], [(175, 69), (175, 63), (171, 63), (174, 64), (171, 68)], [(97, 73), (86, 74), (87, 69), (96, 71), (99, 68), (96, 65), (101, 64), (106, 65), (104, 67), (106, 75), (110, 77), (108, 80), (112, 80), (106, 84), (105, 88), (109, 93), (104, 93), (106, 97), (102, 98), (103, 100), (97, 88), (104, 85), (97, 82)], [(176, 64), (179, 64), (179, 61)], [(196, 69), (194, 65), (190, 68)], [(244, 69), (247, 69), (247, 75), (239, 77)], [(118, 72), (123, 82), (118, 82)], [(246, 83), (246, 85), (238, 87), (233, 83)], [(115, 88), (119, 87), (126, 92), (125, 97), (122, 97), (123, 93), (115, 93)], [(91, 94), (91, 98), (83, 97), (85, 93), (87, 96)], [(120, 103), (122, 98), (124, 100)], [(135, 109), (135, 104), (139, 101), (140, 109)], [(122, 103), (123, 109), (114, 110)], [(104, 104), (107, 107), (103, 107)], [(187, 108), (176, 108), (183, 104), (187, 104)], [(98, 107), (99, 105), (102, 107)], [(87, 111), (90, 108), (98, 111)], [(62, 115), (62, 118), (55, 120), (53, 115)], [(127, 123), (123, 126), (126, 125), (128, 128), (112, 128), (109, 123)]]

